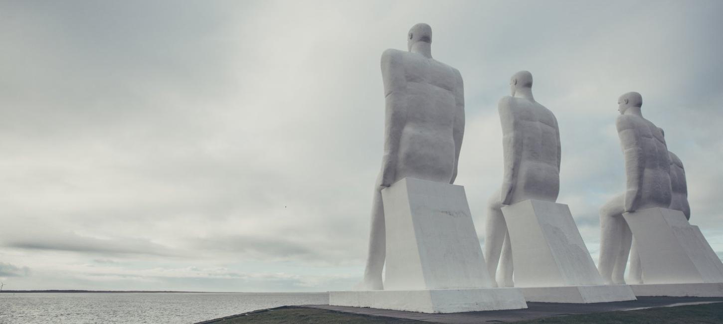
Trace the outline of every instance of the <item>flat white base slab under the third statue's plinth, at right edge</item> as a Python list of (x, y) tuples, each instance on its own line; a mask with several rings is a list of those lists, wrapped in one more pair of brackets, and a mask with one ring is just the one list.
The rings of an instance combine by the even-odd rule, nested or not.
[(723, 283), (643, 283), (630, 285), (636, 296), (723, 297)]

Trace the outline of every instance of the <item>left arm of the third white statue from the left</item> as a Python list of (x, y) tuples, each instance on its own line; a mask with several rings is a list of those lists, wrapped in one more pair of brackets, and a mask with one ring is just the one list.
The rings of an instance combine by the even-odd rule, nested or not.
[(629, 116), (622, 115), (617, 118), (615, 123), (617, 135), (620, 137), (620, 145), (623, 146), (623, 155), (625, 155), (627, 184), (623, 206), (626, 212), (638, 209), (638, 203), (640, 203), (643, 193), (643, 172), (645, 171), (640, 135), (636, 132), (635, 125), (629, 118)]

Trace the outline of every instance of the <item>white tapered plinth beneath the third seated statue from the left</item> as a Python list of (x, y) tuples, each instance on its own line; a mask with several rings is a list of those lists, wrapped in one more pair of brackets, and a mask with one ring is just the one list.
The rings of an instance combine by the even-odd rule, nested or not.
[(721, 260), (682, 212), (647, 208), (623, 217), (638, 244), (646, 284), (723, 282)]

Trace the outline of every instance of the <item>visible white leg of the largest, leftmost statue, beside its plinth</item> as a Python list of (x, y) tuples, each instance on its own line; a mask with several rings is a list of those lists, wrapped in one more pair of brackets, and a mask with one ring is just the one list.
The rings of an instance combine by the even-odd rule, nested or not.
[(382, 205), (382, 189), (377, 186), (372, 202), (372, 226), (369, 230), (369, 255), (367, 256), (367, 268), (364, 270), (364, 282), (361, 289), (382, 290), (382, 268), (386, 250), (386, 230), (384, 223), (384, 205)]

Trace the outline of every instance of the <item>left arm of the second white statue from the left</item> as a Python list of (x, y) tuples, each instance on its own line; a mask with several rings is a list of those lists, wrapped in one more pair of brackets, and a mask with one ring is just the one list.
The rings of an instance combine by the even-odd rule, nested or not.
[(505, 166), (500, 190), (503, 205), (509, 205), (512, 200), (512, 192), (517, 183), (517, 174), (522, 159), (522, 136), (517, 129), (514, 112), (510, 106), (511, 100), (511, 97), (505, 97), (497, 104), (502, 123), (502, 151)]

